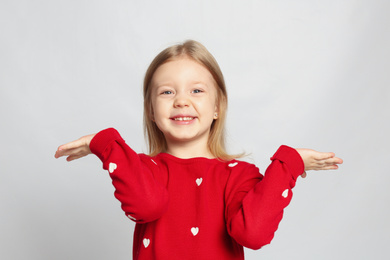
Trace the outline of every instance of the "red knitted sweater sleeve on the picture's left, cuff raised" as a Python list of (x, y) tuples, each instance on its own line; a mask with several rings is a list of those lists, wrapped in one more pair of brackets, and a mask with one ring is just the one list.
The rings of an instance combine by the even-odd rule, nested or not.
[(166, 211), (168, 192), (154, 177), (157, 166), (141, 160), (115, 129), (96, 134), (90, 149), (103, 162), (103, 169), (108, 170), (115, 187), (114, 195), (127, 217), (146, 223)]

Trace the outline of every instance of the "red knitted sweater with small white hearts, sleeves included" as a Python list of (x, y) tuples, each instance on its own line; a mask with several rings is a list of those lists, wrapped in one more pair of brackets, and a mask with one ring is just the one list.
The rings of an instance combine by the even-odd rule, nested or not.
[(287, 146), (264, 177), (243, 161), (150, 157), (135, 153), (112, 128), (98, 133), (90, 148), (136, 222), (134, 259), (244, 259), (243, 246), (271, 242), (304, 170)]

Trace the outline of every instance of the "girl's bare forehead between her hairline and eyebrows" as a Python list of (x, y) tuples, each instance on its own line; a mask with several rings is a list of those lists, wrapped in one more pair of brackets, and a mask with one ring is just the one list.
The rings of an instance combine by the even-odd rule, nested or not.
[(216, 85), (213, 76), (204, 65), (186, 57), (169, 60), (156, 69), (152, 85), (166, 81), (194, 81)]

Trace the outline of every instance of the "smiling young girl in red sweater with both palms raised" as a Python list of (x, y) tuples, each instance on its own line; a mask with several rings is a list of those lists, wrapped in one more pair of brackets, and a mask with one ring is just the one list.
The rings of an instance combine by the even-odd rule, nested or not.
[(244, 259), (244, 246), (259, 249), (272, 240), (298, 176), (342, 163), (333, 153), (281, 146), (263, 176), (229, 155), (224, 79), (198, 42), (158, 54), (143, 93), (149, 155), (135, 153), (112, 128), (55, 154), (100, 158), (115, 197), (136, 222), (134, 259)]

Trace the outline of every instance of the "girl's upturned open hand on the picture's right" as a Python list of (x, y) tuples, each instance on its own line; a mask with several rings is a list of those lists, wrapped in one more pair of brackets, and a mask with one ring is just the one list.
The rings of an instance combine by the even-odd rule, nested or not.
[(336, 170), (339, 168), (337, 164), (343, 163), (343, 160), (336, 157), (334, 153), (323, 153), (303, 148), (296, 150), (305, 164), (305, 171), (301, 175), (302, 178), (306, 177), (306, 171)]

